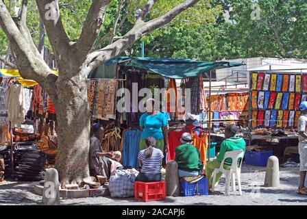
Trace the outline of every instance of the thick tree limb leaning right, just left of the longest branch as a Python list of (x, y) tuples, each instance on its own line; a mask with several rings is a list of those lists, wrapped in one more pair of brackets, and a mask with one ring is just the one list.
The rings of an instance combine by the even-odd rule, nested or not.
[[(38, 1), (38, 0), (37, 0)], [(111, 0), (93, 0), (86, 21), (82, 28), (81, 36), (73, 49), (77, 55), (77, 59), (82, 64), (86, 59), (86, 55), (90, 52), (93, 44), (99, 35), (100, 29), (106, 17), (106, 10)]]

